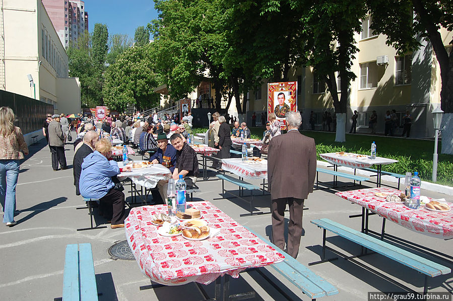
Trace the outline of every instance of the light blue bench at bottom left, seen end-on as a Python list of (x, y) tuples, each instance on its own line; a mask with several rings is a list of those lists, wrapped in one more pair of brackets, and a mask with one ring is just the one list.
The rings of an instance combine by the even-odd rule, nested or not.
[(63, 301), (98, 299), (91, 244), (66, 246), (63, 273)]

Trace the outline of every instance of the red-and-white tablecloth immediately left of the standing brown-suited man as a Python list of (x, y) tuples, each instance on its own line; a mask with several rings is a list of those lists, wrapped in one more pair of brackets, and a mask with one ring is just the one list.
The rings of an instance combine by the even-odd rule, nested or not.
[(242, 161), (241, 158), (222, 159), (222, 169), (246, 179), (267, 179), (268, 161)]

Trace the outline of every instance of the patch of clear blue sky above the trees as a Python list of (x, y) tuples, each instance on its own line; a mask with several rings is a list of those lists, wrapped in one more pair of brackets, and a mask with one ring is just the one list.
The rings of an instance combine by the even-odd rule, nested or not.
[(94, 24), (107, 24), (108, 35), (127, 34), (134, 39), (135, 29), (145, 26), (157, 18), (152, 0), (85, 0), (88, 12), (88, 29), (93, 32)]

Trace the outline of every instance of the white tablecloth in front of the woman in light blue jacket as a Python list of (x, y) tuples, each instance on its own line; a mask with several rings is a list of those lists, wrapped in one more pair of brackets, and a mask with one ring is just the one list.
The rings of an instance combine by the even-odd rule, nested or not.
[[(123, 166), (122, 162), (118, 162), (118, 166), (121, 168)], [(122, 172), (117, 177), (120, 181), (125, 178), (130, 178), (136, 185), (151, 189), (156, 187), (157, 182), (160, 180), (170, 179), (171, 172), (168, 168), (161, 164), (153, 164), (150, 167), (132, 170), (132, 172)]]

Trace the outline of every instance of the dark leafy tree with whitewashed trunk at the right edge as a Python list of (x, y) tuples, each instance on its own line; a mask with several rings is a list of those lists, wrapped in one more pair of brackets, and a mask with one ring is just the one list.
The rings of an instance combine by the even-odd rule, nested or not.
[[(440, 35), (441, 27), (453, 30), (451, 1), (377, 0), (367, 1), (367, 5), (373, 18), (371, 28), (385, 34), (386, 43), (399, 54), (420, 48), (420, 38), (431, 43), (440, 67), (440, 106), (446, 113), (442, 122), (446, 127), (442, 131), (442, 153), (453, 154), (453, 51), (448, 53)], [(453, 44), (453, 39), (448, 43)]]

